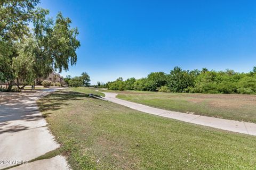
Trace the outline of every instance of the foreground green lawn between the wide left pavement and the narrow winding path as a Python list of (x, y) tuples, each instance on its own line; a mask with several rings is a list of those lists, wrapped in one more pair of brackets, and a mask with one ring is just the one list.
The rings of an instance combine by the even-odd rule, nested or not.
[(38, 100), (61, 144), (57, 153), (73, 169), (255, 169), (256, 137), (88, 96), (57, 91)]

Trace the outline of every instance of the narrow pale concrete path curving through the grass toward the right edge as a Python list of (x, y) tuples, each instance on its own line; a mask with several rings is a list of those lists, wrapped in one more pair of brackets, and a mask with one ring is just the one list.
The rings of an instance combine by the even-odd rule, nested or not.
[(154, 107), (118, 99), (118, 98), (116, 98), (117, 94), (114, 94), (111, 92), (102, 92), (102, 93), (106, 95), (105, 98), (108, 99), (109, 101), (112, 101), (112, 102), (120, 104), (120, 105), (124, 105), (126, 107), (130, 107), (137, 111), (154, 114), (154, 115), (158, 115), (158, 116), (162, 116), (162, 117), (173, 118), (175, 120), (179, 120), (179, 121), (183, 121), (183, 122), (189, 122), (189, 123), (195, 123), (195, 124), (204, 125), (204, 126), (210, 126), (212, 128), (217, 128), (217, 129), (222, 129), (222, 130), (227, 130), (227, 131), (232, 131), (232, 132), (238, 132), (238, 133), (244, 133), (244, 134), (250, 134), (250, 135), (256, 135), (256, 124), (255, 123), (231, 121), (231, 120), (225, 120), (222, 118), (166, 111), (164, 109), (154, 108)]

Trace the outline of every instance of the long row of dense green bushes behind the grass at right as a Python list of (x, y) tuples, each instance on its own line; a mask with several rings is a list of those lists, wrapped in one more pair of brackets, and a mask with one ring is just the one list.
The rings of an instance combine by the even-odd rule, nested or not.
[(211, 94), (256, 94), (256, 67), (250, 73), (233, 70), (208, 71), (207, 69), (186, 71), (174, 67), (169, 74), (150, 73), (147, 78), (130, 78), (108, 82), (110, 90), (143, 90), (161, 92), (198, 92)]

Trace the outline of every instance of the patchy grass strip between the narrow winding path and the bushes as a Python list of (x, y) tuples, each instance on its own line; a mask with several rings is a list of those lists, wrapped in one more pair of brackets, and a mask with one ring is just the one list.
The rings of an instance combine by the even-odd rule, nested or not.
[(118, 93), (119, 99), (169, 111), (256, 123), (256, 95), (109, 92)]

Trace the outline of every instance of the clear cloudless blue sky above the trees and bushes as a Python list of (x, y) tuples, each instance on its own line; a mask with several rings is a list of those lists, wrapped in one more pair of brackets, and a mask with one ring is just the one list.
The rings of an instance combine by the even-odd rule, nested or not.
[(150, 72), (233, 69), (256, 65), (256, 1), (41, 0), (78, 27), (77, 64), (91, 83), (146, 77)]

